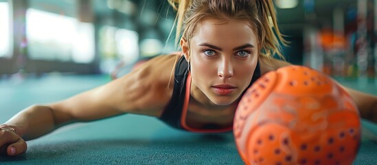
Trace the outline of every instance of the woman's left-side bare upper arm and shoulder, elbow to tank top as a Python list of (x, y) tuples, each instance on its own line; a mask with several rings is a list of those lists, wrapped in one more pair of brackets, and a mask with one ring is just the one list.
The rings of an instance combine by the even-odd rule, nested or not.
[(122, 78), (49, 104), (54, 122), (91, 121), (122, 113), (159, 116), (172, 96), (178, 55), (152, 58)]

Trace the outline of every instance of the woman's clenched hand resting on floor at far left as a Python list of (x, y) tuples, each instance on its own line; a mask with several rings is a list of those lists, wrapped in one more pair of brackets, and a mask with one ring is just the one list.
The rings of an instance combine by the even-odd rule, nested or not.
[(20, 155), (25, 153), (27, 145), (16, 130), (8, 124), (0, 124), (0, 155)]

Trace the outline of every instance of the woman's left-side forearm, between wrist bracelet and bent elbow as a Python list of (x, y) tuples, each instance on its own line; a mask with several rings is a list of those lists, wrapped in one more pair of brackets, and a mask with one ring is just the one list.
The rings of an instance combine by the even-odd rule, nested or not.
[(14, 115), (6, 124), (16, 129), (24, 140), (32, 140), (56, 129), (54, 111), (48, 106), (32, 106)]

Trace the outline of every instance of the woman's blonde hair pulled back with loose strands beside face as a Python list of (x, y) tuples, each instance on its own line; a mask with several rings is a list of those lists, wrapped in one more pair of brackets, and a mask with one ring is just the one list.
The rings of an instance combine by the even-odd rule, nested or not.
[(240, 19), (249, 21), (258, 36), (258, 48), (261, 54), (269, 58), (277, 54), (285, 59), (280, 44), (286, 45), (288, 42), (277, 27), (272, 0), (168, 0), (168, 2), (177, 11), (174, 21), (176, 43), (181, 37), (190, 43), (203, 19), (224, 21)]

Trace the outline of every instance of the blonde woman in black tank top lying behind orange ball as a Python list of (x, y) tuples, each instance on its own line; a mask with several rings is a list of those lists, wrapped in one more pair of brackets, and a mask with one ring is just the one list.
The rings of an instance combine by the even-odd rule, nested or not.
[[(244, 91), (266, 72), (290, 65), (273, 59), (284, 42), (271, 0), (170, 0), (181, 54), (158, 56), (122, 78), (67, 100), (34, 105), (0, 126), (3, 155), (73, 122), (123, 113), (151, 115), (194, 132), (231, 131)], [(182, 28), (181, 28), (182, 27)], [(177, 38), (178, 39), (178, 38)], [(377, 121), (375, 96), (346, 89), (361, 116)]]

